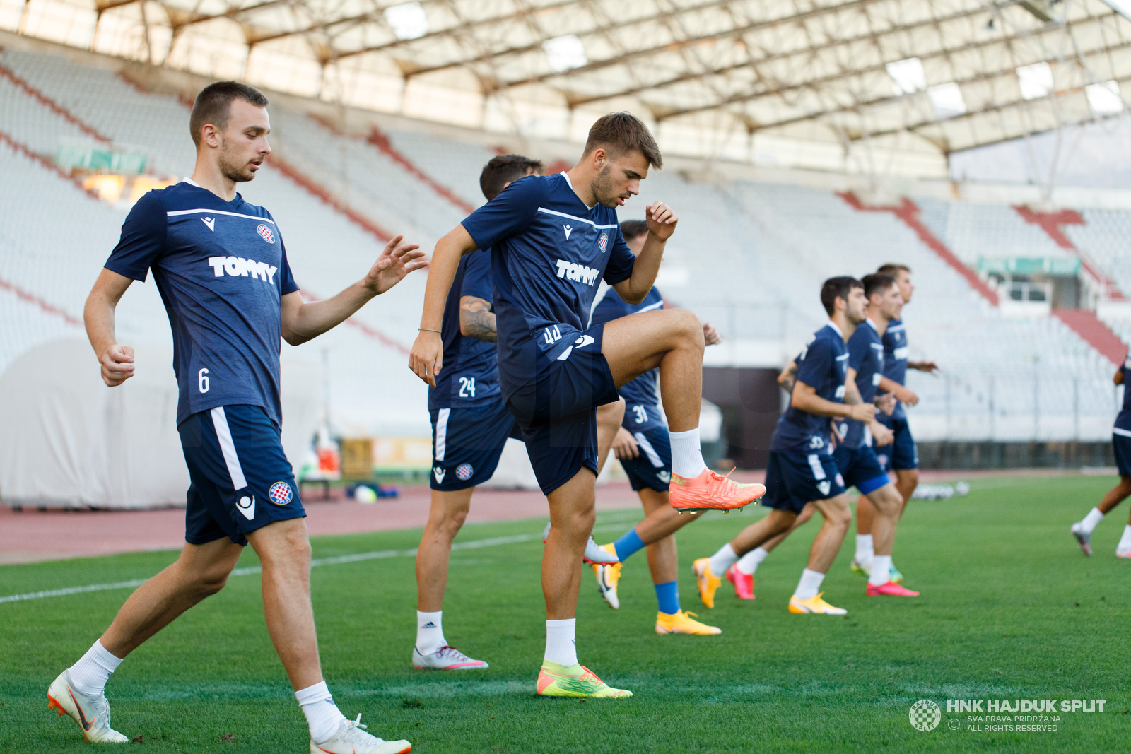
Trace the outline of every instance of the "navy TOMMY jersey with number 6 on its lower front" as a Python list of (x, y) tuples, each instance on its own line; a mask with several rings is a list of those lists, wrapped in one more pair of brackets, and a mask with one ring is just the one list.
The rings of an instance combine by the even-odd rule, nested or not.
[(153, 270), (173, 328), (178, 425), (238, 404), (282, 424), (279, 302), (299, 286), (270, 213), (188, 181), (150, 191), (105, 267), (143, 281)]

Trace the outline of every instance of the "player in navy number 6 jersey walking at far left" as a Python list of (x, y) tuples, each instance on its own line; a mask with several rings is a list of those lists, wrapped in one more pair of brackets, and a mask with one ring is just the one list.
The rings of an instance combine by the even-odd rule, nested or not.
[[(185, 545), (176, 563), (140, 586), (94, 645), (48, 688), (89, 742), (128, 743), (110, 726), (104, 688), (143, 642), (219, 591), (251, 544), (262, 563), (264, 613), (310, 729), (310, 751), (405, 754), (347, 719), (322, 679), (310, 603), (310, 541), (292, 466), (283, 452), (280, 339), (299, 345), (336, 327), (373, 296), (428, 266), (398, 235), (369, 274), (327, 301), (305, 303), (270, 213), (235, 191), (270, 146), (267, 98), (236, 81), (197, 95), (191, 179), (143, 197), (122, 225), (86, 302), (86, 330), (107, 387), (129, 380), (133, 349), (118, 343), (114, 311), (152, 270), (173, 330), (176, 424), (189, 467)], [(157, 369), (156, 365), (140, 365)]]

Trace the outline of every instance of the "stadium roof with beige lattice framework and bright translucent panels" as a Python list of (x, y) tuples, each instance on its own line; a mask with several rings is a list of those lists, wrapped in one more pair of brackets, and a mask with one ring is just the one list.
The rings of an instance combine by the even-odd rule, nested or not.
[(23, 34), (322, 99), (575, 139), (625, 109), (665, 149), (794, 164), (944, 165), (1131, 94), (1131, 0), (5, 3)]

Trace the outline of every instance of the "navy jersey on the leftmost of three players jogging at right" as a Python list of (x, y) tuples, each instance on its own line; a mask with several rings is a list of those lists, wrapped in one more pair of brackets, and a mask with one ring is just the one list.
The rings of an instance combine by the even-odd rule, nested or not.
[[(817, 389), (824, 400), (844, 402), (848, 375), (848, 346), (840, 328), (831, 320), (813, 333), (797, 356), (797, 382)], [(778, 419), (770, 450), (823, 450), (832, 452), (829, 441), (831, 419), (789, 406)], [(800, 448), (798, 448), (800, 447)]]

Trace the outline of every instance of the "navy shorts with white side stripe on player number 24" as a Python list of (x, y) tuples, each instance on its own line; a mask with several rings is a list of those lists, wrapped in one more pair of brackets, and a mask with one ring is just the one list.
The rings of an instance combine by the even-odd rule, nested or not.
[(500, 398), (478, 408), (440, 408), (432, 415), (432, 488), (466, 489), (491, 478), (518, 423)]

